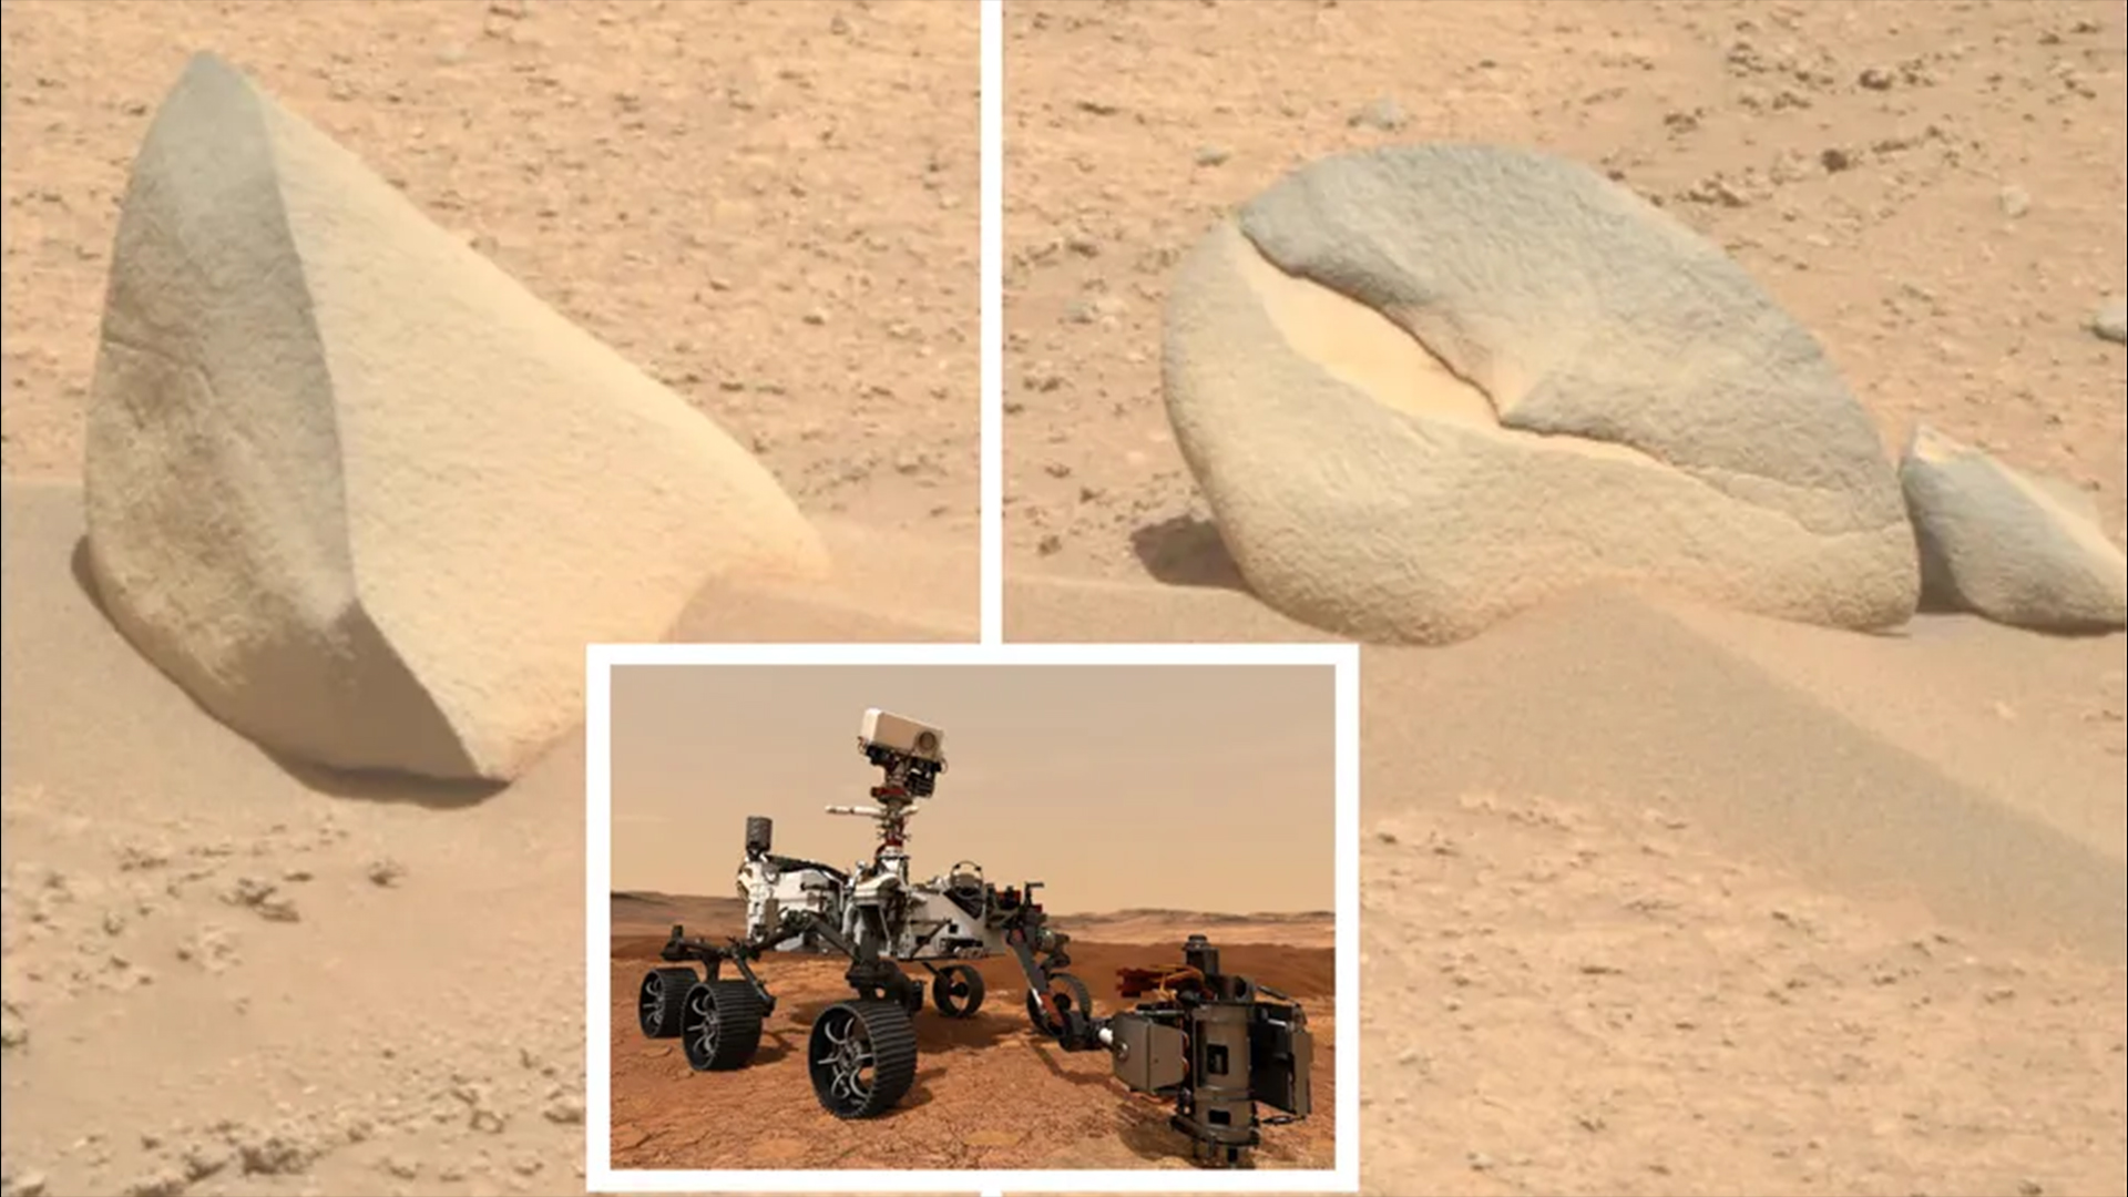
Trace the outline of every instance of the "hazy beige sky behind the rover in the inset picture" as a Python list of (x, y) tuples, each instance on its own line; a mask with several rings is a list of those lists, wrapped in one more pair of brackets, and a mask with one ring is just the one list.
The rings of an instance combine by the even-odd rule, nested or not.
[(945, 731), (919, 878), (977, 860), (1060, 914), (1332, 909), (1334, 675), (1321, 665), (613, 671), (613, 886), (730, 897), (745, 818), (847, 869), (875, 843), (866, 707)]

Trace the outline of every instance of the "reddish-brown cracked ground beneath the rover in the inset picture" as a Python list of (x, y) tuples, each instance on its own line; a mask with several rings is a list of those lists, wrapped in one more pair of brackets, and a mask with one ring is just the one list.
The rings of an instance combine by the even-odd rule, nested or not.
[[(990, 995), (968, 1020), (917, 1016), (917, 1082), (892, 1114), (836, 1122), (807, 1080), (807, 1031), (849, 997), (843, 963), (768, 956), (758, 969), (779, 1005), (747, 1069), (694, 1073), (675, 1039), (645, 1039), (636, 988), (645, 969), (670, 967), (658, 948), (670, 920), (692, 916), (689, 935), (730, 935), (745, 922), (736, 899), (670, 899), (655, 914), (643, 899), (615, 899), (613, 931), (613, 1163), (615, 1167), (936, 1167), (1187, 1169), (1187, 1142), (1173, 1112), (1113, 1080), (1104, 1052), (1064, 1052), (1038, 1039), (1017, 1001), (1024, 980), (1009, 958), (981, 963)], [(1070, 971), (1096, 1014), (1126, 1003), (1117, 967), (1179, 963), (1190, 933), (1211, 935), (1228, 971), (1302, 1001), (1315, 1031), (1315, 1114), (1268, 1127), (1258, 1169), (1326, 1169), (1336, 1142), (1336, 969), (1328, 916), (1194, 916), (1126, 912), (1058, 918), (1073, 935)], [(1119, 931), (1126, 937), (1109, 937)], [(1266, 935), (1266, 931), (1270, 935)], [(1281, 935), (1283, 931), (1283, 935)], [(726, 971), (726, 975), (734, 975)]]

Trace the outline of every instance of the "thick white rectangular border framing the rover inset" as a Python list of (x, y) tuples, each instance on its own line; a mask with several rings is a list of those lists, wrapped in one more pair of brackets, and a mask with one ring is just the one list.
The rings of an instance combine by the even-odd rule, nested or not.
[[(1360, 1191), (1360, 650), (1307, 645), (589, 645), (585, 743), (587, 1193), (1358, 1193)], [(613, 1167), (613, 669), (619, 665), (1324, 665), (1336, 690), (1336, 1146), (1307, 1171), (653, 1171)]]

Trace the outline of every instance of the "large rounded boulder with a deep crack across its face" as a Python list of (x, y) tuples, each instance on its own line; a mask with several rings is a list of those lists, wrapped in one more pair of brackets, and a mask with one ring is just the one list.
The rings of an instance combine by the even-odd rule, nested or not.
[(1566, 158), (1315, 162), (1166, 309), (1175, 439), (1270, 605), (1464, 639), (1592, 584), (1881, 628), (1913, 535), (1871, 422), (1728, 260)]

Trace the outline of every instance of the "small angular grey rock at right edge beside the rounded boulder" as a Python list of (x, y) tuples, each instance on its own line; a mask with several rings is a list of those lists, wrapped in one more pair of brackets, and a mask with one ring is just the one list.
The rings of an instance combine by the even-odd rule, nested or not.
[(1898, 477), (1924, 603), (2051, 633), (2128, 626), (2128, 558), (2090, 494), (2017, 473), (1926, 424)]

